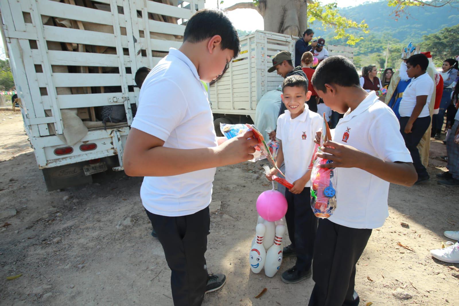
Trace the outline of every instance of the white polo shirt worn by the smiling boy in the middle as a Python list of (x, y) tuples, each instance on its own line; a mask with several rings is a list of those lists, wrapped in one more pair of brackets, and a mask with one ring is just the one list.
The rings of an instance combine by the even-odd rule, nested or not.
[[(304, 111), (297, 118), (291, 119), (290, 111), (286, 110), (277, 119), (276, 137), (282, 141), (285, 179), (290, 183), (308, 172), (314, 153), (314, 138), (323, 122), (324, 119), (311, 112), (306, 103)], [(308, 181), (305, 187), (311, 187), (311, 182)]]

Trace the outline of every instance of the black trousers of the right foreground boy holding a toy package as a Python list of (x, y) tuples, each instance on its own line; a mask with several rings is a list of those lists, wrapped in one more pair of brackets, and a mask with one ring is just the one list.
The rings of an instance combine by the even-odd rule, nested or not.
[(315, 285), (309, 306), (358, 306), (360, 299), (354, 291), (355, 265), (371, 231), (319, 219), (313, 261)]

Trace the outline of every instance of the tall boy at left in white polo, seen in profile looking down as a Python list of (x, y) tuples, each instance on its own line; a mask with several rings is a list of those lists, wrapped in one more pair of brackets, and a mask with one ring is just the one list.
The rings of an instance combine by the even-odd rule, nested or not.
[(145, 176), (140, 197), (171, 269), (176, 306), (201, 305), (226, 280), (207, 274), (204, 257), (215, 168), (252, 159), (257, 140), (252, 132), (226, 142), (215, 136), (201, 80), (216, 79), (239, 51), (222, 11), (196, 12), (179, 50), (171, 48), (142, 84), (124, 147), (126, 174)]

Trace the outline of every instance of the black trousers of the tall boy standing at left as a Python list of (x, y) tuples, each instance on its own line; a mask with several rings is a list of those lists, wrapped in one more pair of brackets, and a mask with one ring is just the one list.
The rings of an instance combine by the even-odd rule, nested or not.
[[(199, 306), (207, 285), (207, 235), (209, 207), (192, 215), (168, 217), (145, 210), (164, 249), (171, 269), (172, 299), (175, 306)], [(154, 304), (154, 303), (153, 303)]]

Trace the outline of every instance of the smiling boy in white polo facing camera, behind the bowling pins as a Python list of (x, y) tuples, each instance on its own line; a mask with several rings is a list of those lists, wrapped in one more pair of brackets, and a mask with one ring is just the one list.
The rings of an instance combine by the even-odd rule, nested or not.
[[(311, 97), (308, 79), (299, 75), (287, 77), (282, 83), (282, 102), (285, 113), (277, 119), (276, 137), (280, 140), (276, 165), (285, 162), (285, 179), (293, 188), (285, 190), (288, 209), (285, 214), (291, 245), (284, 248), (284, 256), (296, 255), (295, 266), (281, 275), (285, 283), (298, 283), (311, 276), (317, 218), (311, 210), (311, 170), (308, 170), (314, 151), (314, 136), (323, 124), (322, 117), (309, 110), (305, 102)], [(277, 173), (271, 169), (268, 179)]]

